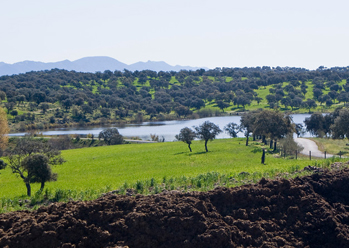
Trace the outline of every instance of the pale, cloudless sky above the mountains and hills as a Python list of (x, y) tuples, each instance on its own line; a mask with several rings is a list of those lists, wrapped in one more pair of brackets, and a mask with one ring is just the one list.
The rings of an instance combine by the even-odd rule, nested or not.
[(0, 62), (349, 66), (347, 0), (0, 0)]

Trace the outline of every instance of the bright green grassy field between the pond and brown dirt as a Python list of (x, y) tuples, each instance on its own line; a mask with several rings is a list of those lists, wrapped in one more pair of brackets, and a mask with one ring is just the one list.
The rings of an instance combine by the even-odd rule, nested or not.
[[(285, 160), (267, 155), (266, 165), (262, 165), (261, 152), (253, 152), (255, 148), (253, 145), (246, 147), (244, 139), (237, 138), (209, 142), (208, 153), (203, 152), (202, 141), (192, 144), (193, 153), (189, 153), (186, 144), (182, 142), (67, 150), (62, 152), (67, 162), (53, 169), (58, 173), (58, 181), (47, 183), (46, 187), (52, 190), (98, 190), (105, 186), (116, 189), (125, 181), (130, 184), (137, 180), (197, 176), (213, 171), (286, 171), (292, 166), (299, 165), (302, 168), (311, 164), (306, 159)], [(33, 184), (32, 191), (36, 192), (38, 188), (38, 184)], [(23, 181), (16, 178), (9, 168), (1, 171), (0, 198), (20, 196), (25, 192)]]

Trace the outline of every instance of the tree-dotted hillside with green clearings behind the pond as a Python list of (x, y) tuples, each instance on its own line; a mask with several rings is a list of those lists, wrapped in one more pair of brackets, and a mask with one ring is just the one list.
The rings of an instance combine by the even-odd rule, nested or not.
[(195, 118), (258, 108), (327, 111), (349, 100), (349, 67), (154, 72), (50, 71), (0, 77), (12, 130)]

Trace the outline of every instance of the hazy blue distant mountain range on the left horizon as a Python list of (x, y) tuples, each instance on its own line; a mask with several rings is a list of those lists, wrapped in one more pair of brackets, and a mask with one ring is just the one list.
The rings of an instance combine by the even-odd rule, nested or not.
[[(190, 66), (172, 66), (163, 61), (147, 61), (147, 62), (137, 62), (131, 65), (122, 63), (116, 59), (110, 57), (85, 57), (75, 61), (63, 60), (59, 62), (36, 62), (36, 61), (22, 61), (14, 64), (7, 64), (0, 62), (0, 76), (3, 75), (13, 75), (19, 73), (25, 73), (30, 71), (43, 71), (51, 70), (54, 68), (65, 69), (68, 71), (78, 71), (78, 72), (104, 72), (105, 70), (111, 71), (123, 71), (124, 69), (130, 71), (142, 71), (142, 70), (152, 70), (152, 71), (180, 71), (180, 70), (197, 70), (200, 67), (190, 67)], [(204, 68), (207, 69), (207, 68)]]

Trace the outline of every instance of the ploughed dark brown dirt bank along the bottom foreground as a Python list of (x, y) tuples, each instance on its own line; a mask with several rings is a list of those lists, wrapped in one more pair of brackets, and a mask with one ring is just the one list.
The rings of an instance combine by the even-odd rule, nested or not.
[(0, 247), (349, 247), (349, 169), (0, 215)]

